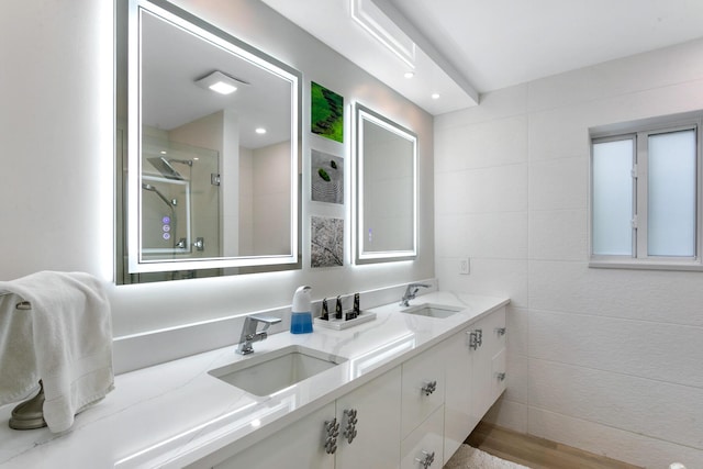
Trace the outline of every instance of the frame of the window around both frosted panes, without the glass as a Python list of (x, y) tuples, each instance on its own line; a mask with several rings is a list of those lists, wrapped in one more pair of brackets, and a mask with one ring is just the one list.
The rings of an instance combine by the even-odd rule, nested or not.
[[(648, 247), (648, 142), (650, 135), (695, 131), (695, 253), (692, 257), (649, 256)], [(588, 238), (589, 267), (703, 271), (703, 111), (593, 127), (589, 131)], [(593, 145), (634, 138), (633, 254), (593, 254)]]

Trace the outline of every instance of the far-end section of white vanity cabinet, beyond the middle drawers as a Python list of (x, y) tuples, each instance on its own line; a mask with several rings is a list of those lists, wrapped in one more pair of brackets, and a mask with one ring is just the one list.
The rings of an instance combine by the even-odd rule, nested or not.
[(505, 308), (446, 342), (445, 458), (505, 390)]

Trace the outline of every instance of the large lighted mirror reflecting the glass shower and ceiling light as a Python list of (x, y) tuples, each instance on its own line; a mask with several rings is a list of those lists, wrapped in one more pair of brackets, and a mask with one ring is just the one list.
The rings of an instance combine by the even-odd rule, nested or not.
[(166, 1), (123, 7), (119, 281), (299, 266), (300, 74)]

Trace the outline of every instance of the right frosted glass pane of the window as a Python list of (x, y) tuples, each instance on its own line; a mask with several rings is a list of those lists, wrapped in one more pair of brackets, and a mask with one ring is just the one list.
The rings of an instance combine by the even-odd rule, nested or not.
[(649, 136), (647, 252), (695, 256), (695, 131)]

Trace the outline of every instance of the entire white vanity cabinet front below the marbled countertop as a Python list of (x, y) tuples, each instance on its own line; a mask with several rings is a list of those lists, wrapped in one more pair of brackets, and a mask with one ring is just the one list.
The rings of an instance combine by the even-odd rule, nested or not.
[(504, 389), (500, 308), (214, 467), (438, 469)]

